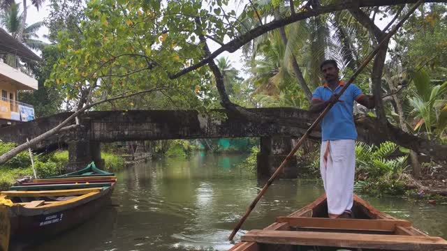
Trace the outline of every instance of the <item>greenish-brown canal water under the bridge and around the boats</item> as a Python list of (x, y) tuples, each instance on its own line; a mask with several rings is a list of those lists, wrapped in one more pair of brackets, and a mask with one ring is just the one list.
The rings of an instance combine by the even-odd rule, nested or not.
[[(117, 173), (112, 205), (95, 218), (29, 250), (228, 250), (237, 220), (264, 185), (237, 167), (247, 155), (198, 153), (161, 158)], [(275, 181), (235, 240), (322, 194), (317, 181)], [(361, 195), (360, 195), (361, 196)], [(365, 197), (379, 210), (447, 238), (447, 204)]]

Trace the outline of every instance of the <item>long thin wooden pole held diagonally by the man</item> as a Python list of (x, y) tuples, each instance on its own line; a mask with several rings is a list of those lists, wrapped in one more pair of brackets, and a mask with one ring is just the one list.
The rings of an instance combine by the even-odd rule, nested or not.
[[(402, 26), (402, 24), (404, 24), (404, 22), (416, 10), (416, 8), (418, 8), (418, 6), (420, 6), (420, 4), (422, 4), (423, 2), (424, 2), (423, 0), (419, 0), (418, 2), (416, 2), (413, 5), (413, 7), (408, 11), (408, 13), (406, 13), (406, 15), (402, 18), (402, 20), (400, 20), (400, 22), (397, 23), (396, 26), (381, 40), (379, 45), (377, 45), (374, 48), (374, 50), (363, 61), (362, 65), (360, 65), (360, 67), (356, 70), (356, 72), (353, 73), (351, 78), (349, 78), (348, 82), (344, 85), (342, 90), (339, 93), (337, 93), (337, 95), (336, 95), (337, 99), (340, 96), (342, 96), (344, 91), (346, 91), (346, 89), (348, 89), (348, 86), (354, 81), (354, 79), (356, 79), (356, 77), (368, 65), (369, 61), (371, 61), (374, 58), (374, 56), (377, 54), (377, 52), (379, 52), (380, 47), (382, 47), (385, 43), (388, 43), (388, 40), (391, 38), (391, 36), (393, 36), (396, 33), (397, 29), (399, 29)], [(302, 143), (305, 142), (305, 140), (307, 139), (307, 137), (309, 137), (309, 135), (312, 132), (312, 130), (314, 130), (316, 125), (318, 125), (318, 123), (320, 123), (321, 119), (323, 119), (323, 117), (329, 112), (329, 110), (330, 110), (330, 108), (332, 108), (332, 106), (334, 106), (334, 104), (333, 103), (329, 103), (329, 105), (323, 110), (323, 112), (321, 112), (321, 114), (316, 118), (314, 123), (312, 123), (312, 125), (309, 127), (309, 129), (307, 129), (305, 134), (302, 135), (302, 137), (300, 138), (298, 143), (295, 144), (295, 146), (293, 147), (292, 151), (290, 153), (288, 153), (287, 157), (283, 160), (283, 162), (281, 162), (281, 165), (279, 165), (279, 167), (272, 174), (272, 176), (269, 178), (267, 183), (265, 183), (265, 185), (264, 185), (263, 189), (261, 190), (261, 192), (259, 192), (258, 195), (256, 196), (256, 198), (254, 199), (254, 201), (251, 202), (249, 208), (247, 209), (247, 212), (245, 212), (244, 216), (239, 220), (239, 222), (237, 222), (237, 225), (236, 225), (235, 229), (233, 229), (233, 232), (230, 234), (230, 237), (228, 238), (229, 241), (233, 240), (233, 238), (236, 235), (237, 231), (239, 231), (239, 229), (242, 226), (242, 224), (244, 223), (244, 221), (247, 220), (249, 214), (254, 209), (254, 207), (256, 206), (258, 201), (261, 199), (261, 197), (265, 194), (265, 192), (267, 191), (268, 187), (270, 185), (272, 185), (274, 179), (278, 176), (279, 172), (281, 172), (281, 170), (286, 166), (288, 160), (293, 158), (293, 155), (296, 153), (296, 151), (298, 151), (298, 149), (300, 148)]]

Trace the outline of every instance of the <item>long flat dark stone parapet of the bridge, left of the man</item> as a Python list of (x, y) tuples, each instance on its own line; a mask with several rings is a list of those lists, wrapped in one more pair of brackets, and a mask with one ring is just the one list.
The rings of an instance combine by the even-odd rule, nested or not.
[[(98, 142), (147, 139), (197, 139), (263, 137), (284, 135), (298, 137), (312, 123), (305, 110), (291, 108), (249, 109), (263, 115), (296, 119), (295, 127), (274, 123), (254, 123), (242, 116), (226, 114), (226, 119), (198, 114), (196, 111), (90, 112), (90, 139)], [(314, 137), (319, 137), (318, 132)]]

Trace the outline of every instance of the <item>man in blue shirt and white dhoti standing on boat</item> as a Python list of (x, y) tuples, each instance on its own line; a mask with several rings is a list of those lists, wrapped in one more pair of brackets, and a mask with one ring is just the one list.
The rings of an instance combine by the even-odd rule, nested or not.
[(335, 104), (321, 121), (320, 172), (328, 198), (329, 217), (352, 218), (357, 139), (353, 105), (357, 101), (372, 109), (374, 97), (364, 95), (351, 84), (337, 100), (335, 94), (344, 86), (339, 80), (337, 62), (325, 60), (320, 70), (326, 82), (315, 89), (309, 111), (322, 112), (329, 103)]

